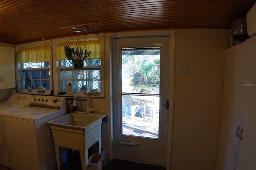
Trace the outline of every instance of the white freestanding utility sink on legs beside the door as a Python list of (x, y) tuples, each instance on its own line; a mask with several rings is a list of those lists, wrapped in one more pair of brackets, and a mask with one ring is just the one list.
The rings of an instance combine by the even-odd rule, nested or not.
[(101, 124), (106, 114), (73, 112), (48, 124), (51, 125), (58, 170), (60, 170), (59, 146), (80, 151), (82, 170), (87, 169), (88, 148), (98, 141), (101, 150)]

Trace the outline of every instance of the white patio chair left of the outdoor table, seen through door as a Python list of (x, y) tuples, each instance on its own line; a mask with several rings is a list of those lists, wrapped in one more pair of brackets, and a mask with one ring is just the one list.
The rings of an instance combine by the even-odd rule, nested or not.
[(137, 100), (134, 100), (130, 95), (123, 95), (123, 97), (126, 103), (126, 110), (124, 116), (126, 116), (127, 110), (128, 108), (130, 108), (131, 118), (133, 118), (137, 111), (140, 109), (140, 103)]

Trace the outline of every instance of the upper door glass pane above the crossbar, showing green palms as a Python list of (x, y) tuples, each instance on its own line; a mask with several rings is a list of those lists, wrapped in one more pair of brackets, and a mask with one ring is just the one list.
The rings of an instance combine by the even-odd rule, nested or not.
[(122, 91), (159, 94), (160, 50), (122, 50)]

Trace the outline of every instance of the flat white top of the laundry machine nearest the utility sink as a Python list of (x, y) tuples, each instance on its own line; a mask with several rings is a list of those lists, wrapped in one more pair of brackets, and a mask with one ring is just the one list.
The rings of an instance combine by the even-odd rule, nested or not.
[(28, 121), (38, 121), (46, 117), (55, 115), (65, 111), (65, 109), (45, 109), (38, 107), (25, 107), (23, 109), (18, 109), (16, 111), (11, 111), (8, 113), (3, 113), (3, 117), (12, 117), (16, 119), (28, 120)]

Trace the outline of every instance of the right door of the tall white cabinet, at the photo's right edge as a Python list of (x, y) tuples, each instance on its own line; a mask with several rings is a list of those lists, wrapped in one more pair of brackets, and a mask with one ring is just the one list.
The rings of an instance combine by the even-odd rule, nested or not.
[(256, 170), (256, 37), (245, 42), (244, 107), (236, 170)]

